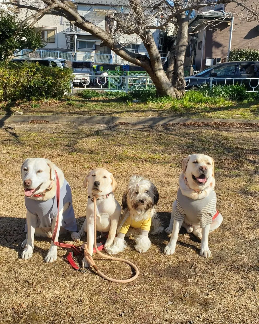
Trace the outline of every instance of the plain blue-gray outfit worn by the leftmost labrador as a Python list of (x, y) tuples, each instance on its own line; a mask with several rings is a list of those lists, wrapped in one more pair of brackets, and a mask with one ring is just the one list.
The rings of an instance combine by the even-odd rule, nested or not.
[[(67, 231), (76, 232), (77, 226), (72, 205), (72, 192), (66, 180), (64, 180), (64, 184), (60, 188), (59, 201), (59, 211), (63, 208), (65, 203), (70, 203), (68, 209), (62, 214), (61, 226)], [(38, 216), (36, 227), (51, 227), (52, 219), (58, 214), (56, 195), (46, 201), (34, 200), (25, 196), (25, 206), (31, 214)], [(25, 224), (25, 232), (27, 232), (27, 221)]]

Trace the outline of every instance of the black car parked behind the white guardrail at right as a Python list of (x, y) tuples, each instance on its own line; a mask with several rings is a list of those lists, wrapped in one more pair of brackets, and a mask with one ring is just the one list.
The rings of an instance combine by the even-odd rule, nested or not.
[[(259, 62), (239, 61), (210, 66), (195, 75), (187, 76), (185, 78), (186, 90), (210, 84), (210, 77), (215, 78), (212, 81), (214, 85), (244, 84), (248, 90), (257, 91), (259, 90)], [(247, 78), (247, 80), (235, 78)], [(258, 79), (251, 80), (250, 78)]]

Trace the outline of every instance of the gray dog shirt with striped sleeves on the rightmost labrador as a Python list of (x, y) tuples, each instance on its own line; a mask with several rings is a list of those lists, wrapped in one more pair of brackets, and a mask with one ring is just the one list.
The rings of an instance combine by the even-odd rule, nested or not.
[(200, 227), (204, 228), (206, 225), (212, 223), (212, 218), (217, 213), (216, 203), (217, 196), (214, 190), (207, 197), (194, 200), (184, 196), (179, 188), (177, 191), (174, 219), (182, 221), (186, 217), (190, 223), (200, 223)]

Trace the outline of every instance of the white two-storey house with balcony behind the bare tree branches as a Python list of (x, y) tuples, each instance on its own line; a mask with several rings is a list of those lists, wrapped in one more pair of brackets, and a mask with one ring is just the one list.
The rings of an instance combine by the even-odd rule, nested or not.
[[(22, 1), (28, 3), (28, 0), (21, 0), (20, 2)], [(119, 15), (123, 19), (123, 17), (127, 17), (130, 10), (129, 6), (122, 6), (119, 0), (74, 0), (73, 5), (75, 10), (86, 17), (87, 20), (108, 32), (112, 32), (116, 24), (111, 17)], [(22, 18), (30, 14), (27, 9), (20, 10)], [(44, 49), (71, 52), (72, 60), (92, 61), (96, 64), (130, 64), (114, 54), (108, 47), (101, 47), (100, 40), (90, 33), (71, 25), (63, 17), (45, 15), (35, 27), (40, 29), (42, 39), (46, 42)], [(162, 52), (160, 44), (161, 32), (155, 29), (152, 32), (156, 44)], [(118, 35), (117, 38), (129, 51), (147, 54), (140, 37), (136, 34)]]

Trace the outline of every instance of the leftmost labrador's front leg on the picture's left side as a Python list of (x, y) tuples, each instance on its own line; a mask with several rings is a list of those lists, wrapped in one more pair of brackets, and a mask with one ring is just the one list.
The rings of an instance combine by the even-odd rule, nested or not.
[[(25, 243), (25, 249), (22, 251), (21, 258), (23, 260), (28, 260), (32, 257), (32, 252), (34, 249), (34, 233), (35, 228), (37, 226), (37, 217), (36, 215), (31, 214), (27, 210), (26, 214), (26, 220), (27, 220), (27, 235), (26, 235), (26, 243)], [(24, 241), (23, 243), (24, 244)]]

